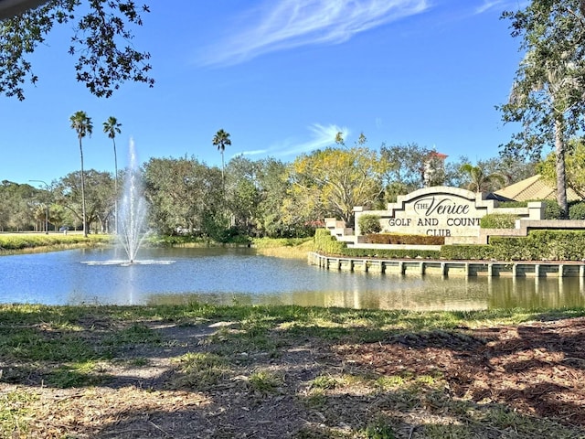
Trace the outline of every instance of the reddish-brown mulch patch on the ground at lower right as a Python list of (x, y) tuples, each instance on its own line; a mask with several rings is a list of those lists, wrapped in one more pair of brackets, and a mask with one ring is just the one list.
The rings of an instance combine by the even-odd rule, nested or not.
[(441, 373), (454, 397), (585, 425), (585, 318), (406, 334), (338, 355), (385, 375)]

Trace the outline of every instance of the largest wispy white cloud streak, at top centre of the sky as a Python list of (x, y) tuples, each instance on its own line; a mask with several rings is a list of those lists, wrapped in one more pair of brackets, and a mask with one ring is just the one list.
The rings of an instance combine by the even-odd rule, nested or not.
[(229, 27), (240, 31), (206, 48), (199, 63), (234, 65), (277, 50), (339, 44), (429, 7), (428, 0), (266, 0)]

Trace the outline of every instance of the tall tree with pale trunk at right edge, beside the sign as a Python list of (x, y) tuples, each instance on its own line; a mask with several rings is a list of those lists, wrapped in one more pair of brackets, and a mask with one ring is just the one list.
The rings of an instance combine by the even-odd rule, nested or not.
[(506, 12), (512, 36), (521, 37), (526, 56), (516, 70), (510, 99), (500, 107), (505, 123), (521, 131), (503, 145), (506, 154), (540, 158), (554, 145), (557, 202), (568, 215), (566, 142), (584, 128), (585, 27), (580, 0), (535, 0), (523, 10)]

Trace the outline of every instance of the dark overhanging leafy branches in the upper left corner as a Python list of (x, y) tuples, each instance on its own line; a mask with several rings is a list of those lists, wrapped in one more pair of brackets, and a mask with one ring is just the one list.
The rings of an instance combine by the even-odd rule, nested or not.
[[(6, 3), (6, 2), (4, 2)], [(36, 2), (41, 3), (41, 2)], [(46, 44), (55, 25), (75, 23), (69, 54), (77, 55), (76, 78), (98, 97), (110, 97), (126, 80), (154, 86), (148, 52), (134, 48), (131, 27), (142, 26), (147, 5), (133, 0), (53, 0), (2, 20), (0, 32), (0, 93), (25, 99), (23, 84), (35, 84), (29, 59)]]

